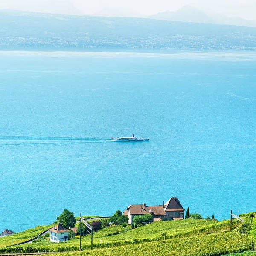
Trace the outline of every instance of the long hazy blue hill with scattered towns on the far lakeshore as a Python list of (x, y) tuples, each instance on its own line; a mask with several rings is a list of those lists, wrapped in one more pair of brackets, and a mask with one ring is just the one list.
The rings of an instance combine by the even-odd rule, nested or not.
[(256, 28), (0, 10), (0, 47), (256, 49)]

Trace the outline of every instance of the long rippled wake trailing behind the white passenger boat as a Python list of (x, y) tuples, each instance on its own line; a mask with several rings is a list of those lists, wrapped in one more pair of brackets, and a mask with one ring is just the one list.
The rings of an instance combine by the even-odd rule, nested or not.
[(56, 145), (56, 144), (75, 144), (75, 143), (105, 143), (113, 141), (104, 138), (88, 137), (45, 137), (45, 136), (5, 136), (0, 135), (0, 147), (15, 147), (28, 145)]

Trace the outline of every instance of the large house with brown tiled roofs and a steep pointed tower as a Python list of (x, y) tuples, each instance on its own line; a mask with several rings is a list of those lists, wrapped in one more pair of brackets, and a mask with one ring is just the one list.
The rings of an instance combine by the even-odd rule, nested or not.
[(184, 218), (184, 211), (179, 199), (172, 197), (163, 205), (131, 204), (123, 214), (128, 216), (128, 224), (132, 224), (134, 216), (146, 213), (153, 215), (154, 221), (180, 220)]

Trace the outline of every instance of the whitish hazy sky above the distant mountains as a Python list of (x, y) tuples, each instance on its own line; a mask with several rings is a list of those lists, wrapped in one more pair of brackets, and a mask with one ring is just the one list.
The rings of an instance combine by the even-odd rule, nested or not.
[[(49, 5), (57, 0), (0, 0), (0, 8), (33, 10)], [(59, 1), (59, 0), (58, 0)], [(66, 0), (65, 0), (66, 1)], [(62, 0), (64, 2), (64, 0)], [(256, 19), (256, 0), (67, 0), (85, 14), (93, 14), (102, 9), (122, 12), (138, 12), (151, 15), (162, 11), (176, 11), (184, 5), (192, 5), (202, 10)], [(66, 8), (67, 7), (66, 5)], [(37, 11), (37, 10), (36, 10)]]

